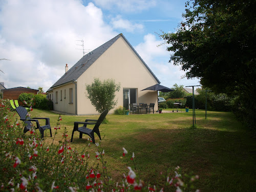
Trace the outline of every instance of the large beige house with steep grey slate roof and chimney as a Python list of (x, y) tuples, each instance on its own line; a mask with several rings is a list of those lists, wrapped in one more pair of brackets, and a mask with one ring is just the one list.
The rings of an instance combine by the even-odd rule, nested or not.
[(122, 34), (84, 55), (70, 70), (67, 64), (65, 68), (66, 73), (47, 91), (55, 111), (97, 114), (86, 97), (86, 84), (91, 84), (94, 78), (120, 82), (121, 89), (116, 92), (117, 107), (127, 109), (130, 103), (144, 102), (155, 103), (157, 110), (157, 91), (141, 90), (160, 81)]

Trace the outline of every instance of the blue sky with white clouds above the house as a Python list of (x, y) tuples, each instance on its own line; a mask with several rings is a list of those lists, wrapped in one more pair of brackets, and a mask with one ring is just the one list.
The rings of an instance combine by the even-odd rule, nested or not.
[(186, 0), (0, 0), (0, 82), (46, 92), (83, 56), (122, 33), (163, 86), (199, 84), (158, 34), (175, 32)]

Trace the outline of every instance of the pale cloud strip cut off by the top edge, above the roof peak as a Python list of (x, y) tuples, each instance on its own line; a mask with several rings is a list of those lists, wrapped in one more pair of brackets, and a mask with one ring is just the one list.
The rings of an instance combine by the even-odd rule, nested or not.
[(118, 9), (122, 12), (137, 12), (157, 5), (156, 0), (94, 0), (94, 2), (103, 9)]

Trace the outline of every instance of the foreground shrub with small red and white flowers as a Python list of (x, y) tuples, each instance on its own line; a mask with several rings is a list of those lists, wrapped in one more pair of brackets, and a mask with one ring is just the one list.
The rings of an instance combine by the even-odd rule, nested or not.
[[(12, 122), (10, 118), (15, 113), (6, 108), (6, 101), (1, 100), (0, 103), (1, 191), (163, 192), (170, 191), (172, 187), (176, 191), (190, 191), (194, 188), (193, 181), (198, 179), (198, 176), (183, 177), (180, 167), (177, 167), (173, 177), (167, 172), (162, 186), (146, 184), (139, 179), (135, 166), (136, 157), (132, 153), (130, 158), (133, 166), (127, 167), (123, 181), (116, 183), (108, 172), (101, 143), (95, 144), (95, 155), (87, 152), (90, 142), (78, 153), (69, 142), (66, 128), (62, 129), (60, 125), (61, 116), (53, 127), (51, 142), (40, 139), (35, 128), (24, 135), (24, 124), (20, 124), (17, 119)], [(31, 110), (30, 107), (28, 114)], [(58, 144), (54, 142), (57, 134), (62, 134), (63, 137)], [(129, 157), (128, 154), (123, 148), (123, 156)]]

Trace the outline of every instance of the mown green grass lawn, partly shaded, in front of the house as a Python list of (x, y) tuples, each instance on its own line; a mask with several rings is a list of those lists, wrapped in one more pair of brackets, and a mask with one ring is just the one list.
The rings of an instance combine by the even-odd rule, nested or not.
[[(184, 110), (185, 111), (185, 110)], [(49, 117), (52, 130), (58, 115), (34, 109), (31, 117)], [(62, 115), (63, 127), (71, 138), (74, 121), (97, 119), (99, 115)], [(15, 115), (14, 118), (19, 118)], [(193, 172), (200, 179), (196, 186), (202, 191), (256, 191), (256, 142), (232, 113), (196, 110), (196, 127), (191, 127), (192, 112), (150, 115), (107, 115), (108, 124), (100, 125), (101, 145), (112, 177), (120, 181), (132, 162), (122, 158), (122, 147), (135, 153), (139, 177), (152, 184), (162, 182), (160, 172), (179, 165), (184, 173)], [(41, 122), (43, 123), (43, 122)], [(54, 130), (53, 130), (54, 131)], [(72, 147), (82, 150), (88, 136), (79, 139), (75, 132)], [(95, 134), (96, 142), (99, 138)], [(51, 141), (49, 131), (46, 141)], [(92, 146), (89, 151), (95, 152)], [(91, 156), (94, 156), (93, 154)]]

